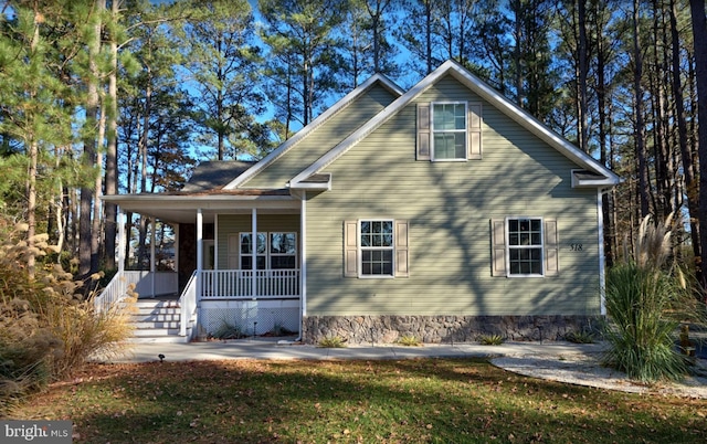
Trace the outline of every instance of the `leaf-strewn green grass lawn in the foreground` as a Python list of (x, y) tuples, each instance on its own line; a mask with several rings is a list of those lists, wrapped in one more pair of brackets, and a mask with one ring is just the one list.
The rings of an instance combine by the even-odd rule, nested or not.
[(93, 364), (15, 419), (74, 443), (701, 443), (707, 401), (518, 377), (478, 359)]

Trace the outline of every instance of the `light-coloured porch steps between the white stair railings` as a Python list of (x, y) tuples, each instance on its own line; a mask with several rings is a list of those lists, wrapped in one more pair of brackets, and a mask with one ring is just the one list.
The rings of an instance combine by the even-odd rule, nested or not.
[(131, 342), (188, 342), (187, 336), (179, 336), (181, 307), (178, 300), (138, 299), (136, 311), (131, 314), (135, 325)]

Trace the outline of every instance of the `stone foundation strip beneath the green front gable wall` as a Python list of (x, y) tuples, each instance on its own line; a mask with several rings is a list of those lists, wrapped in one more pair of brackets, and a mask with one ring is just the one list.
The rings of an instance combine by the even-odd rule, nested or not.
[(340, 337), (347, 343), (393, 343), (413, 336), (426, 343), (474, 342), (481, 336), (506, 340), (562, 340), (571, 331), (595, 330), (591, 316), (307, 316), (302, 338), (316, 345)]

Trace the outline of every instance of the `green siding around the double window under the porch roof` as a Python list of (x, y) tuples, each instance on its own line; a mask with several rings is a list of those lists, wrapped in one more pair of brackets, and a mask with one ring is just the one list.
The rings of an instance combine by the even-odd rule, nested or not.
[[(219, 214), (217, 230), (217, 269), (228, 269), (229, 254), (238, 255), (239, 252), (229, 251), (229, 236), (239, 233), (250, 232), (251, 214)], [(302, 241), (299, 240), (299, 214), (257, 214), (257, 232), (287, 232), (297, 233), (297, 264), (302, 252)]]

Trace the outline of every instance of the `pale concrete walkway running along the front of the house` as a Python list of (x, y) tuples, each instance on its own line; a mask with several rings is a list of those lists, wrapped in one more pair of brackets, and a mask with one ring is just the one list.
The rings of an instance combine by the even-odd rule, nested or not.
[(346, 348), (319, 348), (292, 340), (281, 339), (238, 339), (226, 341), (163, 343), (133, 343), (123, 356), (109, 359), (97, 358), (103, 362), (151, 362), (165, 361), (218, 360), (218, 359), (413, 359), (451, 357), (503, 357), (503, 356), (560, 356), (601, 352), (599, 343), (571, 342), (505, 342), (500, 346), (482, 346), (476, 342), (426, 343), (422, 347), (400, 345), (349, 346)]

